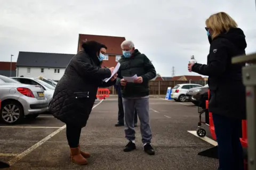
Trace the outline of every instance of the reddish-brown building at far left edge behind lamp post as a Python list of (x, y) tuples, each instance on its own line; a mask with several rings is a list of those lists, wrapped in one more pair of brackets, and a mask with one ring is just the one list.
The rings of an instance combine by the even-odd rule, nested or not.
[[(12, 65), (12, 66), (11, 66)], [(0, 62), (0, 75), (13, 77), (16, 76), (16, 62)]]

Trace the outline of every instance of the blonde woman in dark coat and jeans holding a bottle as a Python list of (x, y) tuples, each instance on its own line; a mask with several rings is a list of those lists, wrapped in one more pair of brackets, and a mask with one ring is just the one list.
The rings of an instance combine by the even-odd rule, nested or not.
[(212, 112), (218, 142), (219, 170), (242, 170), (242, 119), (245, 119), (245, 86), (242, 67), (231, 64), (231, 58), (245, 54), (247, 46), (242, 29), (227, 13), (211, 15), (206, 21), (210, 42), (207, 64), (189, 63), (188, 70), (209, 76)]

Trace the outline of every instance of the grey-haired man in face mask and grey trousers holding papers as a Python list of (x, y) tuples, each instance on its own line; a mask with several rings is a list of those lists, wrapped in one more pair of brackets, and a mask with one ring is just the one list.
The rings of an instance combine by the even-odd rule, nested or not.
[[(136, 149), (134, 131), (134, 109), (137, 111), (140, 120), (140, 132), (144, 151), (149, 155), (155, 155), (151, 147), (151, 129), (149, 125), (149, 86), (150, 79), (156, 77), (156, 70), (145, 54), (141, 54), (134, 48), (131, 41), (124, 41), (121, 44), (123, 55), (119, 60), (121, 66), (118, 70), (117, 83), (121, 84), (125, 137), (129, 143), (125, 146), (124, 152)], [(123, 77), (137, 75), (134, 82), (127, 82)]]

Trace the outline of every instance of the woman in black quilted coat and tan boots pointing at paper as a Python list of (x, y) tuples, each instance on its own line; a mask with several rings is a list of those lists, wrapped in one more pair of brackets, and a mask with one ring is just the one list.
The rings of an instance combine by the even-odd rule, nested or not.
[(86, 126), (98, 87), (114, 85), (116, 75), (107, 83), (102, 81), (110, 77), (114, 69), (101, 68), (107, 50), (105, 45), (87, 41), (82, 47), (83, 50), (70, 60), (56, 86), (49, 110), (55, 118), (66, 123), (71, 160), (86, 165), (90, 154), (79, 149), (81, 129)]

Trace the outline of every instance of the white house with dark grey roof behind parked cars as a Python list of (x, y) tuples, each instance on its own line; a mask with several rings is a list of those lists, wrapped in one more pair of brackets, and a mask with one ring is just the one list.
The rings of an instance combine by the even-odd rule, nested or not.
[(16, 75), (60, 80), (75, 54), (19, 52)]

